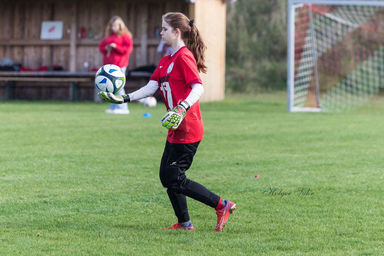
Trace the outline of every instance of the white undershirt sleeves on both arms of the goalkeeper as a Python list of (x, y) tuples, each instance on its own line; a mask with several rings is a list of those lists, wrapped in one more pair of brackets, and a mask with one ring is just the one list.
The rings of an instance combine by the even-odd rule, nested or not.
[[(187, 98), (184, 99), (184, 101), (186, 101), (189, 106), (195, 104), (204, 93), (203, 85), (200, 83), (192, 84), (191, 88), (191, 92)], [(146, 86), (138, 89), (137, 91), (131, 92), (128, 95), (131, 101), (137, 101), (138, 99), (144, 99), (146, 97), (152, 96), (157, 89), (159, 89), (159, 83), (154, 80), (149, 80)]]

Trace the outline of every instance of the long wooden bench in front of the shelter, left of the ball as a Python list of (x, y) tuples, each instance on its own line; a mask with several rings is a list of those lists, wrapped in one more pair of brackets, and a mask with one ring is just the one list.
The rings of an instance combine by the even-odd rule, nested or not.
[[(0, 71), (0, 81), (5, 81), (7, 99), (16, 98), (16, 82), (64, 82), (69, 83), (70, 100), (76, 100), (80, 82), (93, 82), (96, 72), (69, 71)], [(53, 86), (50, 84), (49, 86)]]

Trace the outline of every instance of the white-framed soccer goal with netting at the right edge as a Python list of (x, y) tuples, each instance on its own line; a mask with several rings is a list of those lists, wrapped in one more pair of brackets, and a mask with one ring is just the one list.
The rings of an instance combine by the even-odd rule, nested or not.
[(384, 107), (384, 1), (288, 0), (288, 111)]

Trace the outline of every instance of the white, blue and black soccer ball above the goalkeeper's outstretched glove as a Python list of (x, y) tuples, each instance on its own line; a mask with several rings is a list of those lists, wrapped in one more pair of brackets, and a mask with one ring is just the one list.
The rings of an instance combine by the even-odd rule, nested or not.
[(117, 94), (125, 85), (125, 74), (119, 66), (107, 64), (96, 72), (95, 84), (99, 91)]

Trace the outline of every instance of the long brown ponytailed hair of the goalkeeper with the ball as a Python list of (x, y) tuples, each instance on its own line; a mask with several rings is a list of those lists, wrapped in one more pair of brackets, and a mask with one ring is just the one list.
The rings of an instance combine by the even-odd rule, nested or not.
[(166, 13), (163, 15), (162, 20), (165, 20), (173, 29), (179, 28), (181, 39), (195, 57), (197, 69), (199, 72), (207, 73), (207, 66), (205, 66), (204, 60), (207, 46), (205, 46), (199, 30), (194, 24), (194, 20), (189, 20), (184, 13), (179, 12)]

